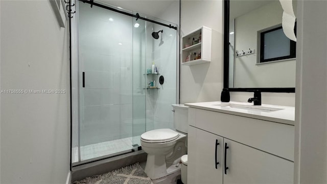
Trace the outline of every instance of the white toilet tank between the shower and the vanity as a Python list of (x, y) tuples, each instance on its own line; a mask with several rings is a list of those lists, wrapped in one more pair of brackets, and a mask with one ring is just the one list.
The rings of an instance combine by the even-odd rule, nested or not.
[(188, 133), (189, 128), (189, 107), (184, 104), (172, 104), (174, 109), (174, 126), (175, 129), (184, 133)]

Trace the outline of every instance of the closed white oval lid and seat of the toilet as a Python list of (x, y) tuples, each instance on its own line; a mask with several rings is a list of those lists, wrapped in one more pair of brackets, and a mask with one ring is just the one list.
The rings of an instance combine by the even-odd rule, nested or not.
[(144, 142), (163, 143), (173, 141), (178, 138), (178, 133), (169, 128), (150, 130), (141, 135)]

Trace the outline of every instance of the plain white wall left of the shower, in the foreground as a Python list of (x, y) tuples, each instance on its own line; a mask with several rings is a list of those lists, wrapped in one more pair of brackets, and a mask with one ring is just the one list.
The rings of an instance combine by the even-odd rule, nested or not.
[[(15, 12), (15, 13), (13, 13)], [(66, 24), (67, 26), (67, 24)], [(68, 28), (49, 1), (1, 1), (1, 183), (65, 183), (69, 172)]]

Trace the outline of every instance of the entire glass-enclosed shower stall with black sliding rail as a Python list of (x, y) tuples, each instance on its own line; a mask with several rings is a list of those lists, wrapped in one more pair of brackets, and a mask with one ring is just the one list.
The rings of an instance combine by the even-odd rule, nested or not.
[[(146, 131), (173, 129), (171, 104), (178, 101), (176, 24), (100, 3), (75, 4), (73, 166), (137, 150)], [(153, 62), (157, 74), (149, 74)]]

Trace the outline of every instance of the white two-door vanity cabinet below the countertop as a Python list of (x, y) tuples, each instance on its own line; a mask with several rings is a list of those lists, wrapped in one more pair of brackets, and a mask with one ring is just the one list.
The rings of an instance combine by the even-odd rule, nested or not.
[(293, 125), (197, 108), (189, 124), (188, 183), (293, 183)]

